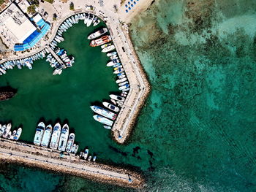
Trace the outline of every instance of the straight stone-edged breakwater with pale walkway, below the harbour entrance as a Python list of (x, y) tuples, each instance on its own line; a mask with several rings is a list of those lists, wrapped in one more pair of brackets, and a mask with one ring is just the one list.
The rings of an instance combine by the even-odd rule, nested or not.
[(60, 155), (57, 150), (3, 138), (0, 139), (0, 159), (129, 188), (142, 188), (144, 185), (143, 177), (128, 169), (80, 160), (75, 155)]

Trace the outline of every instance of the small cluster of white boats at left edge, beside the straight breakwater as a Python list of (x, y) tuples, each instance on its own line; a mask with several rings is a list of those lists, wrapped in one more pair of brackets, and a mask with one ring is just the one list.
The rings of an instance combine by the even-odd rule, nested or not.
[(20, 138), (20, 135), (22, 133), (22, 128), (18, 128), (18, 130), (12, 129), (12, 123), (8, 123), (7, 125), (1, 125), (0, 124), (0, 137), (3, 137), (4, 139), (11, 139), (17, 141)]

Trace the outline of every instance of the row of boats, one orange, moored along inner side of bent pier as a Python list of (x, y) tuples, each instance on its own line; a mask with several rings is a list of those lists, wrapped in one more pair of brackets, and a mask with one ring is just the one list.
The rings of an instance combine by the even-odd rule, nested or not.
[(107, 53), (107, 56), (110, 58), (110, 62), (108, 62), (107, 66), (113, 67), (113, 74), (116, 74), (118, 79), (116, 80), (116, 83), (119, 86), (118, 89), (122, 91), (121, 96), (114, 94), (110, 95), (110, 101), (112, 103), (103, 102), (103, 107), (91, 106), (91, 110), (97, 113), (97, 115), (94, 115), (94, 119), (103, 123), (104, 128), (111, 129), (114, 120), (116, 120), (117, 113), (120, 110), (119, 107), (122, 107), (125, 97), (129, 92), (129, 81), (116, 51), (113, 51), (116, 47), (112, 43), (112, 38), (107, 33), (108, 28), (101, 28), (93, 34), (90, 34), (88, 39), (91, 40), (91, 47), (101, 46), (102, 52)]

